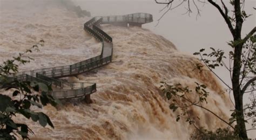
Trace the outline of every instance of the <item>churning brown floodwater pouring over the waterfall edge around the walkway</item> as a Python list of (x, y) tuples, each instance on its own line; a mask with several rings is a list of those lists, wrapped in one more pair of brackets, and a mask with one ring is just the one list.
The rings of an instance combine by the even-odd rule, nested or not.
[[(35, 61), (21, 65), (21, 71), (72, 64), (100, 54), (101, 43), (83, 30), (90, 17), (78, 18), (64, 6), (49, 3), (1, 1), (1, 62), (41, 39), (44, 47), (29, 54)], [(25, 10), (28, 7), (30, 10)], [(184, 120), (176, 122), (179, 113), (170, 110), (170, 102), (159, 89), (161, 81), (191, 88), (194, 82), (204, 83), (210, 91), (208, 104), (215, 105), (206, 107), (228, 119), (230, 100), (210, 72), (194, 70), (197, 58), (181, 53), (169, 40), (144, 28), (101, 28), (113, 38), (112, 63), (66, 78), (71, 82), (97, 83), (97, 92), (91, 95), (93, 103), (70, 100), (63, 101), (58, 109), (44, 107), (43, 112), (49, 115), (55, 129), (42, 128), (18, 116), (17, 121), (26, 121), (35, 132), (30, 135), (32, 139), (188, 139), (193, 127)], [(225, 127), (200, 108), (190, 112), (200, 116), (199, 126)]]

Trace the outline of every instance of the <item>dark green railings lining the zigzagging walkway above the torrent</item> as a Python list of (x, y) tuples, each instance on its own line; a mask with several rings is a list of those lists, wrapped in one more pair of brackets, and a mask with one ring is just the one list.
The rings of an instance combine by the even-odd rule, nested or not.
[[(138, 15), (138, 16), (137, 16)], [(149, 17), (148, 17), (149, 16)], [(112, 17), (104, 17), (104, 23), (106, 23), (106, 18), (107, 21), (110, 23), (114, 23), (114, 21), (126, 21), (120, 24), (127, 24), (132, 23), (131, 21), (138, 21), (140, 18), (145, 18), (145, 23), (147, 21), (152, 21), (152, 15), (149, 14), (145, 14), (145, 13), (136, 13), (136, 14), (127, 14), (123, 17), (120, 16), (112, 16)], [(111, 18), (111, 19), (110, 19)], [(120, 19), (122, 18), (122, 19)], [(130, 20), (131, 18), (131, 20)], [(58, 93), (58, 98), (72, 98), (73, 96), (75, 97), (79, 97), (79, 95), (85, 95), (85, 100), (86, 102), (91, 102), (90, 99), (90, 94), (94, 91), (96, 91), (96, 84), (92, 84), (91, 86), (87, 86), (84, 85), (84, 83), (80, 83), (80, 88), (79, 90), (77, 90), (76, 88), (79, 87), (79, 83), (73, 83), (73, 82), (66, 82), (64, 85), (63, 81), (51, 78), (52, 77), (63, 77), (63, 76), (67, 76), (69, 73), (70, 75), (72, 74), (72, 70), (73, 74), (79, 73), (80, 70), (84, 71), (87, 69), (92, 69), (92, 68), (96, 68), (98, 66), (101, 66), (103, 64), (106, 64), (108, 62), (112, 61), (112, 54), (113, 54), (113, 46), (112, 43), (110, 44), (112, 49), (111, 49), (111, 56), (107, 56), (105, 58), (103, 58), (103, 53), (104, 53), (104, 40), (108, 43), (108, 42), (112, 42), (112, 38), (106, 34), (105, 32), (103, 32), (102, 30), (100, 30), (99, 27), (97, 27), (97, 25), (99, 25), (100, 23), (103, 22), (103, 18), (100, 18), (99, 20), (96, 20), (96, 18), (93, 18), (89, 21), (87, 21), (87, 23), (84, 24), (84, 30), (87, 31), (89, 34), (91, 34), (92, 36), (95, 36), (95, 38), (99, 41), (102, 41), (102, 53), (97, 56), (97, 57), (93, 57), (89, 60), (86, 61), (82, 61), (82, 62), (78, 62), (76, 64), (73, 65), (68, 65), (65, 67), (53, 67), (53, 68), (48, 68), (48, 69), (41, 69), (41, 70), (35, 70), (35, 71), (26, 71), (26, 72), (19, 72), (19, 74), (17, 73), (17, 77), (19, 80), (38, 80), (39, 82), (45, 82), (45, 83), (54, 83), (56, 86), (59, 85), (60, 89), (64, 89), (65, 87), (69, 87), (72, 90), (70, 91), (66, 91), (66, 90), (61, 90), (58, 92), (49, 92), (51, 93), (53, 96), (57, 96)], [(140, 20), (140, 23), (134, 24), (134, 26), (138, 26), (143, 24), (143, 19)], [(91, 28), (91, 25), (93, 26)], [(107, 44), (109, 45), (109, 44)], [(78, 71), (77, 71), (78, 69)], [(38, 73), (37, 73), (38, 72)], [(42, 72), (42, 73), (41, 73)], [(50, 73), (51, 72), (51, 73)], [(60, 73), (59, 73), (60, 72)], [(22, 75), (20, 75), (22, 73)], [(56, 76), (55, 76), (56, 73)], [(42, 74), (42, 75), (41, 75)], [(16, 73), (15, 73), (16, 75)], [(34, 75), (37, 77), (35, 78)], [(14, 77), (15, 78), (15, 77)], [(77, 85), (76, 85), (77, 84)], [(62, 95), (61, 95), (62, 94)], [(73, 95), (72, 95), (73, 94)], [(61, 97), (62, 96), (62, 97)]]

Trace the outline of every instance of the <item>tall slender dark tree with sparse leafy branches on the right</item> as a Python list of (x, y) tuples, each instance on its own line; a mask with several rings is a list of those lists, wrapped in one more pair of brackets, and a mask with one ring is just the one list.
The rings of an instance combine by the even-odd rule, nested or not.
[[(246, 18), (250, 17), (251, 15), (248, 15), (244, 11), (244, 5), (245, 1), (242, 0), (230, 0), (229, 6), (231, 6), (231, 9), (228, 9), (226, 6), (227, 3), (223, 2), (223, 0), (220, 1), (213, 1), (213, 0), (182, 0), (182, 1), (175, 1), (175, 0), (168, 0), (168, 1), (160, 1), (160, 0), (155, 0), (156, 3), (158, 4), (164, 4), (165, 7), (163, 10), (166, 10), (164, 14), (166, 14), (168, 11), (171, 11), (173, 9), (179, 8), (181, 5), (186, 5), (186, 13), (190, 14), (192, 12), (191, 5), (195, 6), (197, 10), (197, 15), (200, 15), (200, 10), (198, 4), (205, 4), (205, 3), (210, 3), (214, 8), (218, 10), (218, 12), (221, 14), (221, 16), (224, 18), (227, 27), (229, 31), (231, 32), (233, 36), (233, 40), (228, 43), (229, 46), (232, 47), (233, 51), (229, 52), (229, 58), (230, 62), (232, 62), (229, 66), (226, 65), (223, 61), (225, 57), (225, 52), (223, 50), (215, 50), (214, 48), (212, 49), (212, 53), (210, 54), (203, 54), (204, 49), (201, 49), (200, 52), (194, 53), (194, 55), (200, 55), (201, 61), (204, 62), (205, 66), (208, 68), (207, 70), (210, 70), (214, 73), (213, 69), (215, 67), (223, 66), (225, 67), (231, 75), (231, 82), (232, 82), (232, 87), (228, 86), (218, 75), (214, 73), (228, 88), (228, 90), (233, 92), (234, 95), (234, 113), (232, 113), (232, 118), (230, 119), (230, 122), (225, 121), (228, 123), (230, 126), (233, 122), (236, 122), (237, 124), (235, 125), (234, 130), (235, 132), (238, 133), (240, 138), (243, 139), (248, 139), (247, 133), (246, 133), (246, 126), (245, 122), (245, 116), (250, 117), (250, 118), (255, 118), (255, 98), (254, 98), (254, 91), (255, 91), (255, 59), (256, 59), (256, 48), (255, 48), (255, 41), (256, 41), (256, 36), (253, 35), (256, 31), (256, 27), (253, 27), (250, 32), (247, 33), (246, 36), (242, 37), (241, 35), (241, 30), (242, 30), (242, 25), (245, 21)], [(255, 8), (254, 8), (255, 10)], [(162, 17), (164, 16), (162, 15)], [(162, 18), (160, 17), (160, 19)], [(207, 58), (204, 58), (204, 56), (208, 56), (211, 58), (214, 58), (213, 60), (208, 60)], [(204, 65), (198, 64), (197, 68), (200, 70), (203, 70), (202, 68)], [(180, 85), (178, 85), (180, 86)], [(199, 93), (200, 96), (200, 101), (206, 101), (207, 93), (202, 92), (200, 93), (200, 90), (203, 87), (204, 90), (204, 85), (197, 85), (199, 86), (199, 89), (197, 89), (197, 93)], [(170, 89), (169, 85), (165, 84), (165, 91)], [(171, 87), (173, 90), (173, 86)], [(189, 91), (187, 89), (182, 89), (185, 94), (185, 92)], [(169, 90), (170, 91), (170, 90)], [(174, 91), (179, 91), (179, 89), (174, 89)], [(168, 93), (169, 98), (170, 98), (170, 93)], [(251, 103), (246, 105), (244, 107), (243, 103), (243, 97), (244, 94), (249, 94), (251, 93), (253, 95), (253, 98), (251, 100)], [(166, 94), (167, 95), (167, 94)], [(184, 98), (180, 97), (180, 98)], [(190, 99), (187, 99), (190, 100)], [(194, 103), (193, 103), (194, 104)], [(198, 104), (194, 104), (198, 105)], [(173, 104), (170, 106), (171, 109), (175, 109), (178, 107), (176, 104)], [(177, 109), (177, 108), (176, 108)], [(213, 113), (213, 112), (212, 112)], [(189, 121), (188, 121), (189, 122)], [(192, 121), (193, 122), (193, 121)], [(255, 121), (253, 122), (255, 123)]]

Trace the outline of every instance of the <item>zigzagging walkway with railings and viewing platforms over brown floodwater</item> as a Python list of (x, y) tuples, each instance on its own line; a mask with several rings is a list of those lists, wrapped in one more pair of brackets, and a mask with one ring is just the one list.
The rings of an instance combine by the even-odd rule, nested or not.
[(153, 21), (152, 15), (148, 13), (133, 13), (123, 16), (94, 17), (84, 24), (84, 30), (91, 34), (96, 40), (102, 42), (100, 55), (80, 61), (71, 65), (52, 67), (38, 70), (22, 71), (10, 76), (18, 80), (30, 80), (46, 85), (51, 85), (53, 91), (49, 91), (53, 97), (58, 99), (71, 99), (85, 97), (90, 100), (90, 94), (96, 92), (96, 83), (65, 82), (58, 78), (76, 76), (80, 73), (102, 67), (112, 61), (113, 42), (110, 35), (99, 28), (100, 24), (113, 24), (117, 26), (138, 26)]

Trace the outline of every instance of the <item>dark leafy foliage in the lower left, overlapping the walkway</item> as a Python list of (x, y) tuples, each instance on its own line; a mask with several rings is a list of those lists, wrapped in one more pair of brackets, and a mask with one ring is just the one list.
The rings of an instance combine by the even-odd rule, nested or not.
[[(29, 138), (29, 132), (33, 134), (26, 123), (18, 123), (14, 120), (17, 114), (26, 117), (26, 119), (38, 121), (43, 127), (49, 124), (54, 128), (48, 115), (31, 109), (32, 106), (42, 108), (47, 104), (56, 106), (60, 103), (48, 94), (51, 85), (12, 77), (12, 74), (18, 72), (18, 63), (26, 64), (32, 59), (24, 55), (32, 52), (32, 50), (38, 50), (38, 46), (42, 46), (43, 42), (41, 40), (24, 53), (19, 53), (17, 57), (13, 57), (0, 65), (0, 89), (2, 90), (2, 93), (0, 92), (0, 139), (16, 139), (15, 136), (18, 135), (26, 139)], [(11, 91), (11, 94), (3, 94), (4, 91)]]

